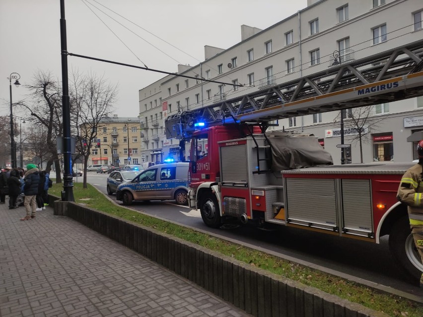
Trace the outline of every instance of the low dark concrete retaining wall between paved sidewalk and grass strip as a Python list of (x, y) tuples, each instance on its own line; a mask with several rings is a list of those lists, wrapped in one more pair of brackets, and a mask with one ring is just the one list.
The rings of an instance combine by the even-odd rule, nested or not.
[(102, 211), (57, 200), (54, 214), (75, 219), (254, 316), (387, 316)]

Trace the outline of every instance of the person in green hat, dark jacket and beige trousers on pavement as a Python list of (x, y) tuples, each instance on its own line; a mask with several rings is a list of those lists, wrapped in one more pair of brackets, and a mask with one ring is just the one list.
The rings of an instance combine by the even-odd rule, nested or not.
[(26, 209), (26, 216), (21, 220), (30, 220), (35, 218), (37, 205), (35, 197), (38, 194), (38, 184), (40, 183), (40, 175), (38, 168), (34, 164), (26, 165), (25, 185), (23, 186), (23, 193), (25, 194), (24, 206)]

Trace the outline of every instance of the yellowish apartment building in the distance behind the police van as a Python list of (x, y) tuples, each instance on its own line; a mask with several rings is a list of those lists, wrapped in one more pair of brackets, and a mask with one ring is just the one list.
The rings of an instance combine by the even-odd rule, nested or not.
[[(140, 163), (142, 136), (138, 117), (118, 117), (114, 114), (100, 120), (97, 138), (92, 140), (88, 164), (119, 166)], [(97, 148), (97, 143), (100, 148)]]

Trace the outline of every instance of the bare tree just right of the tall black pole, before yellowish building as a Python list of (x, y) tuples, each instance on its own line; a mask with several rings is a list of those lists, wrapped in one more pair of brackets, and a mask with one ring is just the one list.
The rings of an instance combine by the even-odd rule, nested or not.
[[(84, 159), (83, 187), (86, 188), (86, 168), (93, 140), (101, 121), (113, 112), (113, 103), (118, 94), (117, 86), (107, 83), (106, 79), (95, 74), (86, 76), (72, 71), (72, 90), (70, 91), (71, 115), (76, 131), (77, 148)], [(101, 153), (100, 153), (101, 158)]]

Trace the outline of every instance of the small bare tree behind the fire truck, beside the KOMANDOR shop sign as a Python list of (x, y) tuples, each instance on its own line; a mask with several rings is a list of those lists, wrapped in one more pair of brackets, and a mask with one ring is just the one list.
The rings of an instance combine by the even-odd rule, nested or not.
[[(379, 116), (374, 116), (375, 106), (364, 106), (353, 109), (341, 110), (344, 111), (344, 130), (354, 129), (357, 134), (349, 135), (352, 143), (359, 143), (360, 146), (360, 162), (363, 162), (363, 143), (370, 140), (370, 130), (376, 129), (378, 123), (382, 120)], [(334, 122), (341, 121), (341, 112), (334, 119)], [(366, 132), (367, 130), (367, 132)]]

